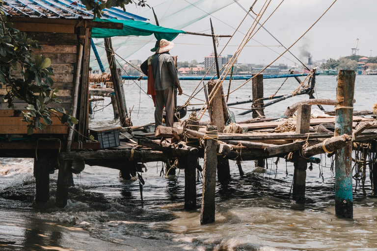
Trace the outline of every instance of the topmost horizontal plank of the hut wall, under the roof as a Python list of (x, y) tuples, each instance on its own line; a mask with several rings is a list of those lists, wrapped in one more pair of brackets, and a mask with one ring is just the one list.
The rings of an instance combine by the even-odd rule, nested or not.
[(14, 22), (13, 27), (20, 31), (75, 33), (75, 25)]

